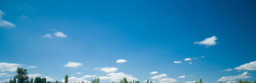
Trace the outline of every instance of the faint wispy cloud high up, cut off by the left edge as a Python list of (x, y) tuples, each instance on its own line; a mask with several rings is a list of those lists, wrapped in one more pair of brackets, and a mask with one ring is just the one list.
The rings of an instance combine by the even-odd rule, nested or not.
[(2, 18), (2, 16), (3, 15), (5, 15), (5, 12), (2, 12), (1, 10), (0, 10), (0, 26), (1, 27), (5, 27), (5, 28), (15, 28), (16, 27), (16, 25), (14, 25), (14, 24), (12, 24), (11, 22), (9, 22), (9, 21), (6, 21), (6, 20), (3, 20)]

